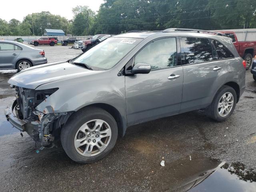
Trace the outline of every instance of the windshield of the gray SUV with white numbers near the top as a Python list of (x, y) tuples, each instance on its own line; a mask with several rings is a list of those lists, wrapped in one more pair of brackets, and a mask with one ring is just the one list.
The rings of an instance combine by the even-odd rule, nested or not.
[(108, 38), (76, 58), (74, 63), (86, 64), (92, 70), (108, 70), (141, 42), (138, 38)]

